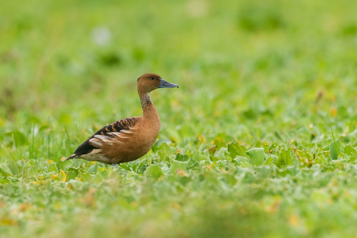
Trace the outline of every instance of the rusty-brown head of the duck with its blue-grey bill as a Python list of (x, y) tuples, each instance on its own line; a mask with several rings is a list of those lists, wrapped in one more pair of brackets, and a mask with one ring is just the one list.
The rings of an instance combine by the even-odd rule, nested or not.
[(169, 83), (159, 75), (146, 73), (137, 79), (137, 90), (139, 93), (150, 93), (157, 88), (178, 88), (177, 84)]

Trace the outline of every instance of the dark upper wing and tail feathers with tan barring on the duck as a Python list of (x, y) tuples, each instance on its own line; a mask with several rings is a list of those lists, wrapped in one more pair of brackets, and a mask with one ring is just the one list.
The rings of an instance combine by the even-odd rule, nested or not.
[(76, 157), (79, 157), (81, 155), (85, 155), (90, 153), (94, 149), (98, 149), (99, 147), (96, 147), (92, 144), (89, 143), (89, 140), (94, 138), (95, 135), (108, 135), (107, 133), (109, 132), (119, 132), (121, 130), (128, 130), (131, 127), (135, 126), (135, 124), (139, 121), (140, 117), (130, 117), (130, 118), (125, 118), (121, 119), (119, 121), (115, 121), (107, 126), (104, 126), (102, 129), (98, 130), (96, 133), (94, 133), (90, 138), (88, 138), (86, 141), (84, 141), (77, 149), (74, 151), (73, 155), (67, 158), (69, 159), (74, 159)]

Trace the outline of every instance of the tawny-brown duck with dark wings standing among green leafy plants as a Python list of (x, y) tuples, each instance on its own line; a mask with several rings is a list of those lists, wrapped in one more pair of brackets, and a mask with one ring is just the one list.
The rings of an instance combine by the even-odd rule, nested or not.
[(143, 74), (137, 79), (142, 117), (130, 117), (115, 121), (94, 133), (84, 141), (66, 160), (84, 159), (104, 164), (130, 162), (150, 151), (160, 131), (160, 117), (150, 92), (157, 88), (178, 88), (159, 75)]

